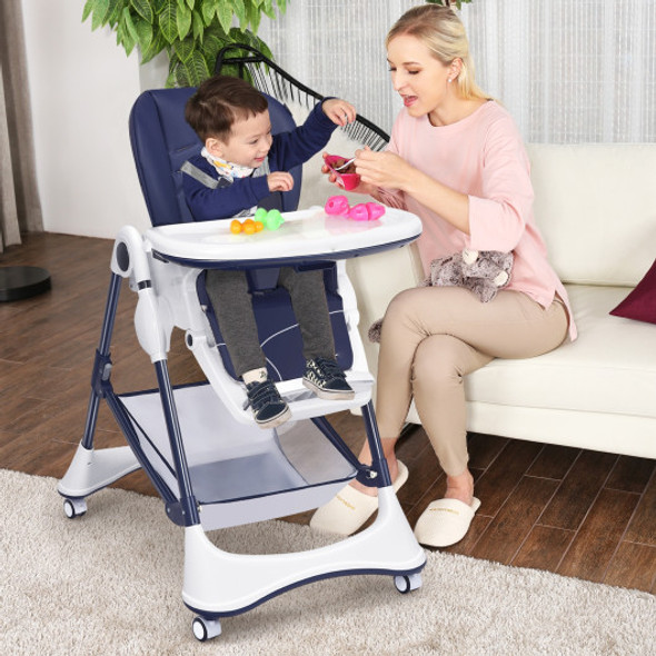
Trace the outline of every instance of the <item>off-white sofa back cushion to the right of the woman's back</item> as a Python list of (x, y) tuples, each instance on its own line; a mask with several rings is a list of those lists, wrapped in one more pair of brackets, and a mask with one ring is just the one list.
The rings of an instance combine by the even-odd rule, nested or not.
[(529, 143), (535, 218), (564, 282), (635, 286), (656, 254), (656, 143)]

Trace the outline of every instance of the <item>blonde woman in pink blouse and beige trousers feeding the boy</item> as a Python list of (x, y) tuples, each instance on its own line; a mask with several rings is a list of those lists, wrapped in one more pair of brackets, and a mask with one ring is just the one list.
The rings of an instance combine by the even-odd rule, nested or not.
[[(434, 547), (463, 539), (480, 506), (468, 469), (464, 376), (494, 358), (538, 356), (576, 338), (535, 225), (524, 143), (510, 115), (477, 87), (468, 48), (450, 8), (407, 11), (387, 37), (404, 109), (388, 149), (360, 150), (355, 160), (356, 191), (420, 217), (427, 272), (431, 260), (464, 248), (514, 254), (510, 281), (489, 302), (461, 287), (417, 287), (394, 298), (382, 321), (376, 414), (391, 480), (398, 489), (407, 478), (395, 445), (413, 399), (446, 473), (444, 498), (415, 527)], [(360, 460), (371, 461), (367, 445)], [(351, 481), (311, 526), (350, 535), (376, 508), (376, 488)]]

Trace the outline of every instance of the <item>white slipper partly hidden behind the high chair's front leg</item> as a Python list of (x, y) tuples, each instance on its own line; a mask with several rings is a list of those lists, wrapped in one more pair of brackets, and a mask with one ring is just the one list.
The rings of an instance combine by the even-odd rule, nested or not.
[[(392, 483), (394, 491), (408, 480), (408, 468), (398, 460), (399, 471)], [(351, 535), (376, 513), (378, 497), (358, 491), (347, 485), (341, 488), (327, 504), (317, 509), (310, 519), (310, 527), (335, 535)]]

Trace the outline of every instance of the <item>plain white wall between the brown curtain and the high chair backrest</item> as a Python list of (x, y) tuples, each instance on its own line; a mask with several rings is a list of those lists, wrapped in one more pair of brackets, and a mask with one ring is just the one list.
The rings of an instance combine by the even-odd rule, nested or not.
[(126, 223), (145, 230), (128, 136), (137, 54), (81, 22), (83, 0), (21, 2), (44, 229), (108, 238)]

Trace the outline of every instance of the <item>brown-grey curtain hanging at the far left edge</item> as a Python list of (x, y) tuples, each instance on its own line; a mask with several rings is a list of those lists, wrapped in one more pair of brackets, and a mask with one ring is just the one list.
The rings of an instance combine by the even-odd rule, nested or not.
[(0, 2), (0, 252), (41, 231), (20, 0)]

